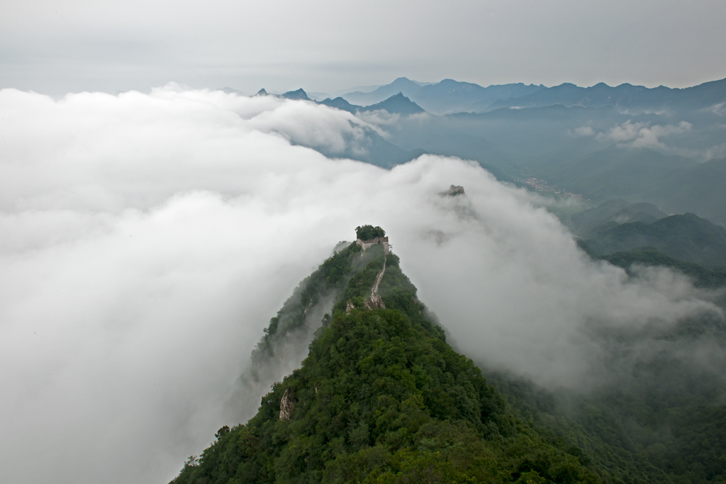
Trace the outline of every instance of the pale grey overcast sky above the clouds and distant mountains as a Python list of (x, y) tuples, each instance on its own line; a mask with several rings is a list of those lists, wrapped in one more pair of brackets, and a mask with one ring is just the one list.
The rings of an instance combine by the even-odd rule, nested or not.
[(685, 87), (726, 77), (725, 18), (722, 0), (5, 1), (0, 87)]

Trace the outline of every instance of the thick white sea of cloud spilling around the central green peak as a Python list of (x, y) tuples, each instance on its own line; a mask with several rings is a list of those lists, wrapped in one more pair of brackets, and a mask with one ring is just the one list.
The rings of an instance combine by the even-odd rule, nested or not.
[[(177, 86), (57, 102), (5, 89), (0, 112), (0, 462), (14, 483), (168, 482), (254, 411), (224, 404), (262, 328), (362, 223), (388, 231), (468, 356), (544, 385), (592, 377), (594, 326), (717, 313), (668, 271), (634, 281), (592, 263), (476, 164), (385, 171), (306, 147), (343, 152), (373, 128), (346, 112)], [(466, 197), (441, 197), (449, 184)]]

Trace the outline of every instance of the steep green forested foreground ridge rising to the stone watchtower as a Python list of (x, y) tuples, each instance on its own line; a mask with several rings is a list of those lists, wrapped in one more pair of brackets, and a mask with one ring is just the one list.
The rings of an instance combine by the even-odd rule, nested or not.
[[(386, 308), (365, 309), (384, 258), (378, 293)], [(515, 417), (481, 370), (452, 350), (396, 255), (380, 246), (363, 255), (351, 244), (309, 282), (340, 278), (348, 284), (301, 368), (272, 386), (247, 424), (222, 427), (174, 483), (599, 481), (578, 447)], [(280, 315), (258, 353), (271, 348), (278, 324)]]

